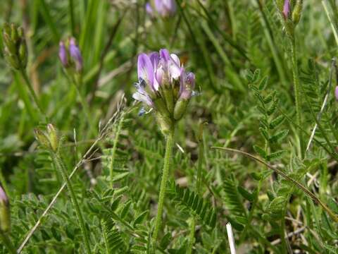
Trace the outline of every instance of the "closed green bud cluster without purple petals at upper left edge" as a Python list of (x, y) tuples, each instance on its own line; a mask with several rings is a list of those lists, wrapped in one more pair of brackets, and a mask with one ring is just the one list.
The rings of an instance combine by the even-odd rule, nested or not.
[(4, 24), (2, 38), (4, 40), (4, 56), (7, 63), (19, 70), (27, 66), (27, 44), (23, 28), (15, 24)]

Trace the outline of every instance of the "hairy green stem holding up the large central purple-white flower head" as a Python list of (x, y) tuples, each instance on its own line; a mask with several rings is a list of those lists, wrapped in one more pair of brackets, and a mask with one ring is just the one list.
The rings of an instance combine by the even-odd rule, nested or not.
[(165, 146), (163, 174), (162, 174), (162, 180), (161, 180), (161, 186), (160, 186), (160, 194), (158, 197), (158, 208), (157, 208), (155, 229), (154, 229), (154, 234), (153, 234), (154, 247), (156, 247), (158, 231), (160, 230), (160, 227), (162, 224), (162, 212), (163, 212), (163, 205), (164, 205), (164, 198), (165, 198), (165, 188), (167, 186), (171, 157), (173, 155), (174, 133), (175, 131), (173, 129), (166, 136), (167, 140), (166, 140), (166, 146)]

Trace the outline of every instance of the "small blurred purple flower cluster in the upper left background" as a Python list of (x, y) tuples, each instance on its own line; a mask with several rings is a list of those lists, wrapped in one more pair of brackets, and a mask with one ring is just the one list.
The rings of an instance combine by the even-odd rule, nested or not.
[(75, 67), (78, 73), (82, 71), (82, 55), (79, 47), (77, 47), (75, 38), (70, 37), (67, 42), (60, 42), (58, 58), (65, 68)]

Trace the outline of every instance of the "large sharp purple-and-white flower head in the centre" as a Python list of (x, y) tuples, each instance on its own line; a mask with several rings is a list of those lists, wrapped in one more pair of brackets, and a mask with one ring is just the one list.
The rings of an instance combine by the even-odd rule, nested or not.
[(194, 73), (187, 73), (167, 49), (140, 54), (137, 60), (137, 92), (134, 99), (153, 108), (163, 132), (182, 118), (195, 87)]

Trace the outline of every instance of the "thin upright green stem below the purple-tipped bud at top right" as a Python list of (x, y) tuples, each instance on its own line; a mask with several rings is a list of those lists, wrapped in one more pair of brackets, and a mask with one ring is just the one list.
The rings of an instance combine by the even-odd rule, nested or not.
[[(299, 84), (299, 72), (297, 66), (297, 57), (296, 57), (296, 42), (293, 38), (290, 38), (291, 42), (291, 52), (292, 52), (292, 73), (294, 75), (294, 97), (296, 102), (296, 119), (297, 124), (301, 126), (301, 94), (300, 94), (300, 84)], [(299, 131), (299, 143), (301, 148), (301, 157), (303, 157), (303, 135)]]

